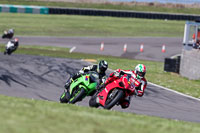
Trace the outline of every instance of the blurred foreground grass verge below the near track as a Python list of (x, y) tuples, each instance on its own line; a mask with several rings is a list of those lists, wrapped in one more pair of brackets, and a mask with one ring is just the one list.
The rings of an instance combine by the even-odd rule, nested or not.
[(199, 123), (0, 95), (0, 133), (198, 133)]

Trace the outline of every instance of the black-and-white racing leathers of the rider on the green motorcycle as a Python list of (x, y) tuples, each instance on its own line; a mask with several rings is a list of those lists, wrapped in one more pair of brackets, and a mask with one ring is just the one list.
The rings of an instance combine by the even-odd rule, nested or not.
[(99, 71), (98, 65), (91, 65), (91, 66), (83, 67), (78, 73), (76, 73), (72, 78), (70, 78), (70, 80), (68, 82), (66, 82), (65, 88), (68, 89), (73, 80), (79, 78), (81, 76), (81, 74), (83, 74), (85, 72), (89, 72), (89, 71), (95, 71), (99, 74), (99, 84), (102, 84), (105, 82), (105, 80), (106, 80), (105, 71), (104, 72)]

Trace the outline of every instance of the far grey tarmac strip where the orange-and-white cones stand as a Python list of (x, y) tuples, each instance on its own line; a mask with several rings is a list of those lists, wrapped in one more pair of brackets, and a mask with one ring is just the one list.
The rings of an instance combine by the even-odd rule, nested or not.
[[(75, 52), (112, 55), (132, 59), (152, 60), (163, 62), (165, 58), (181, 54), (182, 38), (167, 37), (26, 37), (18, 36), (20, 45), (42, 45), (72, 48)], [(6, 44), (8, 40), (0, 39), (0, 44)], [(104, 51), (100, 51), (100, 45), (104, 42)], [(124, 52), (124, 44), (127, 44), (127, 52)], [(143, 52), (140, 46), (143, 44)], [(166, 52), (162, 52), (165, 45)]]

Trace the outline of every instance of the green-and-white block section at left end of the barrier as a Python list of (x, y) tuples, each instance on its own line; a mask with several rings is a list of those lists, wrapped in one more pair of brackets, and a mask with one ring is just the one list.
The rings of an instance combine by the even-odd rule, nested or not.
[(48, 14), (49, 8), (44, 6), (1, 5), (0, 12)]

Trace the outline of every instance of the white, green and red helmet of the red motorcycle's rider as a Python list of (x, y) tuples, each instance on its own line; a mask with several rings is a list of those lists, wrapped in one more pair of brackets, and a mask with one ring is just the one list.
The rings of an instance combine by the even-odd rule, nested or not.
[(138, 79), (144, 78), (146, 73), (146, 67), (143, 64), (138, 64), (135, 67), (135, 74)]

